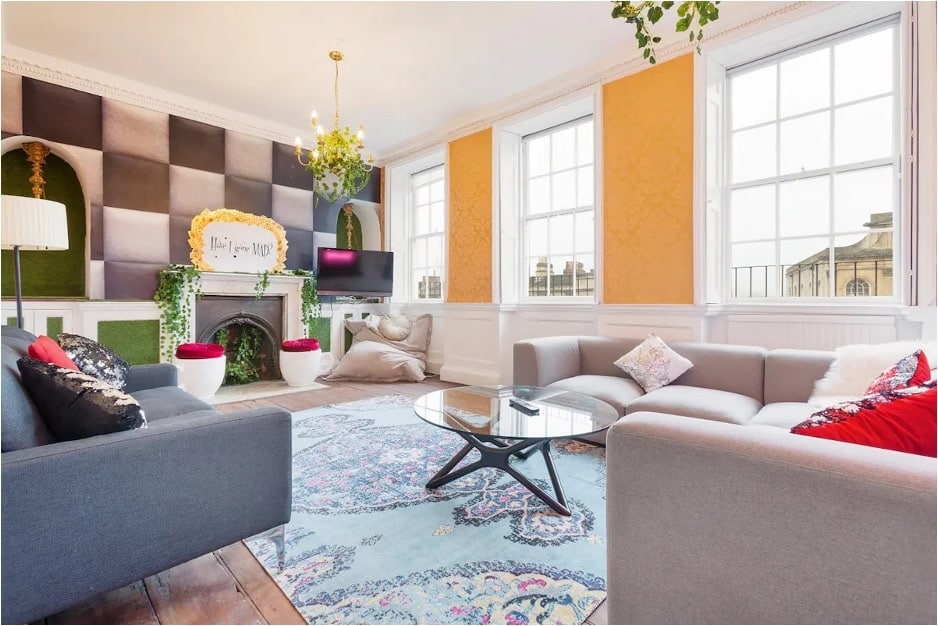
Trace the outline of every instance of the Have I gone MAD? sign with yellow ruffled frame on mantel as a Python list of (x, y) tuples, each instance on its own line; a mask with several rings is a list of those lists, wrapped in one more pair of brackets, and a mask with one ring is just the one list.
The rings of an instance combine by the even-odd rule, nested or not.
[(214, 272), (281, 272), (287, 258), (283, 226), (263, 215), (205, 209), (189, 228), (190, 258)]

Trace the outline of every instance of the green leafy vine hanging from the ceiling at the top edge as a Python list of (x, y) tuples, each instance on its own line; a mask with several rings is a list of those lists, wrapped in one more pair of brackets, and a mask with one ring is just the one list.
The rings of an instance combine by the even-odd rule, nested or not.
[[(700, 41), (703, 39), (703, 27), (715, 22), (720, 17), (717, 2), (620, 2), (612, 3), (612, 17), (624, 19), (629, 24), (635, 24), (635, 39), (638, 48), (642, 50), (642, 58), (654, 65), (654, 44), (661, 43), (661, 37), (651, 34), (648, 24), (657, 24), (664, 16), (664, 12), (677, 4), (677, 24), (675, 32), (688, 33), (690, 43), (697, 42), (697, 54), (700, 54)], [(696, 26), (695, 26), (696, 25)]]

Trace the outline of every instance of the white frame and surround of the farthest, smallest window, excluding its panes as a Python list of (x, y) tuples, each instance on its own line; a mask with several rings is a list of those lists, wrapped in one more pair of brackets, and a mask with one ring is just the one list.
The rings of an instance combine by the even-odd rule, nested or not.
[[(417, 298), (417, 285), (413, 284), (411, 243), (414, 237), (414, 199), (411, 188), (412, 176), (420, 172), (443, 166), (443, 287), (439, 298)], [(441, 304), (446, 301), (447, 272), (449, 267), (449, 165), (444, 147), (423, 155), (392, 163), (386, 166), (387, 219), (385, 242), (388, 250), (394, 251), (394, 294), (392, 304)]]

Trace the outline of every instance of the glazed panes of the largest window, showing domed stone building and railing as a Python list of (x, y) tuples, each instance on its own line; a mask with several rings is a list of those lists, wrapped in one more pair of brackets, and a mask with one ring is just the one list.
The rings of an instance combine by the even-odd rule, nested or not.
[(892, 296), (898, 18), (731, 68), (731, 299)]

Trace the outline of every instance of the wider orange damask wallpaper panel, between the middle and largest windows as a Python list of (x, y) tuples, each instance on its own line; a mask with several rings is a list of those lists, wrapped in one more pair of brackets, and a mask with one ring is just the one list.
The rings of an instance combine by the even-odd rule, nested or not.
[(692, 54), (603, 86), (603, 302), (694, 301)]

